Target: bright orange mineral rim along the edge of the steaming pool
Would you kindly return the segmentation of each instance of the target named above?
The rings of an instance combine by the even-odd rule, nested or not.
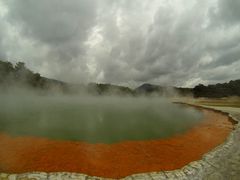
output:
[[[174,170],[201,159],[233,129],[228,116],[202,109],[204,119],[168,139],[89,144],[0,134],[0,172],[81,172],[121,178],[134,173]]]

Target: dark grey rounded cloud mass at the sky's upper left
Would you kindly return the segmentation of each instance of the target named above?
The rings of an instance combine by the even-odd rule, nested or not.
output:
[[[84,40],[95,20],[93,0],[9,0],[8,20],[28,38],[60,46]]]

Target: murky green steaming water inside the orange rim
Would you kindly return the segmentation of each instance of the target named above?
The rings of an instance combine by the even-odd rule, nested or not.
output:
[[[0,132],[13,136],[116,143],[170,137],[201,119],[160,98],[0,96]]]

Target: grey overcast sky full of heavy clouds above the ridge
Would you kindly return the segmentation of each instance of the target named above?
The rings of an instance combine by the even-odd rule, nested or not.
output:
[[[67,82],[240,78],[239,0],[0,0],[0,59]]]

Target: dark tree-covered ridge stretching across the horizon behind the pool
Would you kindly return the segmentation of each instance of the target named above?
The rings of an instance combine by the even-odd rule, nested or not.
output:
[[[240,80],[228,83],[204,86],[199,84],[194,88],[180,88],[172,86],[160,86],[144,83],[136,89],[129,87],[89,83],[87,85],[71,84],[59,80],[42,77],[25,67],[23,62],[13,65],[10,62],[0,61],[0,88],[12,86],[27,87],[34,90],[47,92],[60,92],[68,94],[87,93],[93,95],[159,95],[159,96],[194,96],[207,98],[222,98],[228,96],[240,96]]]

